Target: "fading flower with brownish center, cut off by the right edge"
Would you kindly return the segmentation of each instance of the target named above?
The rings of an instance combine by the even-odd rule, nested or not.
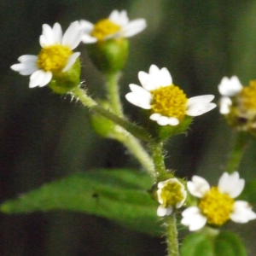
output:
[[[224,114],[228,123],[239,131],[256,132],[256,81],[243,87],[240,80],[233,76],[224,77],[218,84],[221,94],[219,112]]]

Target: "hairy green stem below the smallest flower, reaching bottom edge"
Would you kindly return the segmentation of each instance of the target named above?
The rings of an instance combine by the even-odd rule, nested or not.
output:
[[[166,243],[168,256],[178,256],[177,224],[174,213],[166,217]]]

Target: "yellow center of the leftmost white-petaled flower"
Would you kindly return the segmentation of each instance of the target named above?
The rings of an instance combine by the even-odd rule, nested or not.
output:
[[[38,54],[37,65],[44,71],[61,72],[67,66],[67,59],[73,51],[61,44],[45,46]]]

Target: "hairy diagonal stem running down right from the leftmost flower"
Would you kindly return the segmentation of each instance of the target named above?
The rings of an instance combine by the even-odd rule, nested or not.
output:
[[[143,129],[140,126],[133,125],[125,119],[119,118],[116,114],[109,112],[107,109],[103,108],[96,101],[94,101],[90,96],[87,96],[86,92],[81,88],[77,87],[70,91],[71,95],[77,98],[83,105],[96,113],[100,113],[103,117],[112,120],[115,124],[120,125],[126,131],[129,131],[134,137],[142,139],[146,142],[149,142],[150,135],[148,131]]]

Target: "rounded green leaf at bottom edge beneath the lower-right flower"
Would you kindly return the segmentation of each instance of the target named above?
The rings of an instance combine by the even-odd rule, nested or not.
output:
[[[230,231],[218,236],[194,233],[187,236],[181,247],[181,256],[247,256],[240,238]]]

